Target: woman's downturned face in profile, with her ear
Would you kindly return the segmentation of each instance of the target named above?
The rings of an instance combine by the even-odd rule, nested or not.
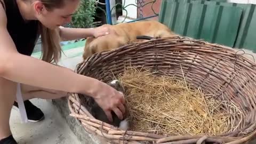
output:
[[[45,6],[41,2],[38,2],[38,6],[35,4],[35,8],[36,11],[38,9],[41,9],[41,11],[36,14],[36,17],[45,27],[55,29],[71,22],[72,15],[75,13],[79,3],[79,0],[66,0],[65,5],[60,9],[47,11]]]

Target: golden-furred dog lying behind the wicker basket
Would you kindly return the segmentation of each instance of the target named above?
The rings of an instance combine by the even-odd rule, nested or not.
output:
[[[106,36],[86,39],[83,53],[84,60],[94,53],[113,50],[137,41],[137,36],[165,37],[176,35],[167,26],[158,21],[118,23],[117,25],[106,24],[101,27],[109,27],[110,33]]]

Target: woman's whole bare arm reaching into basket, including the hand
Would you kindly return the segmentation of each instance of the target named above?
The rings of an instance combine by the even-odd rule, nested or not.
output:
[[[111,110],[122,118],[121,93],[97,79],[18,53],[6,29],[6,15],[0,6],[0,76],[10,81],[46,89],[87,94],[93,97],[111,120]],[[122,112],[121,112],[122,111]]]

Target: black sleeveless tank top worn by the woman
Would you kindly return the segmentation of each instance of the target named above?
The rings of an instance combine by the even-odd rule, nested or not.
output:
[[[16,1],[17,0],[4,0],[7,16],[7,30],[18,52],[30,56],[33,53],[36,41],[39,37],[38,21],[23,20]],[[2,1],[0,1],[0,4],[3,5]]]

